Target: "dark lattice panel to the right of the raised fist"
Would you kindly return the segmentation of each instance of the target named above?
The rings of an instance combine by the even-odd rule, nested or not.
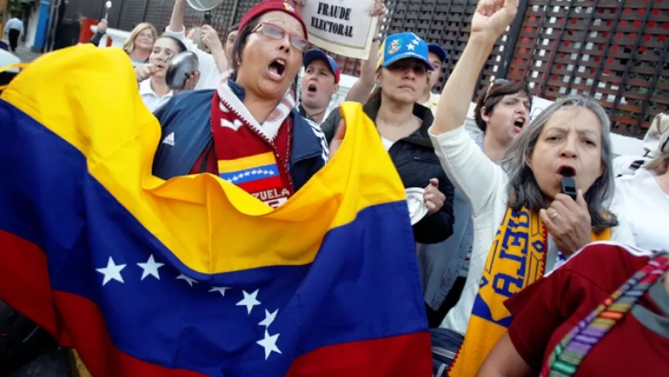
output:
[[[529,0],[508,76],[546,99],[589,94],[614,132],[643,137],[669,104],[668,34],[668,0]]]

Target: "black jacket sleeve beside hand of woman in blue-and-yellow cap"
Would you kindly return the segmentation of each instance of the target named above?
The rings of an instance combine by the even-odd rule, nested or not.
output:
[[[454,187],[446,178],[439,177],[439,191],[444,193],[446,200],[439,212],[425,216],[414,225],[414,238],[418,243],[439,243],[453,234],[453,196]]]

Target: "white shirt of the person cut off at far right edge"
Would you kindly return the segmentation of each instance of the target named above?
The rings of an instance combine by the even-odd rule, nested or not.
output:
[[[611,211],[627,220],[638,247],[669,248],[669,195],[652,172],[641,168],[633,176],[616,179]]]

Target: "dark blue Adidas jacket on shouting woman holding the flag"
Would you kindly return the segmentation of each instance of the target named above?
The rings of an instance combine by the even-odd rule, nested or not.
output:
[[[240,100],[244,89],[228,81]],[[213,143],[211,105],[214,90],[187,91],[175,96],[154,115],[162,128],[158,151],[153,159],[153,174],[162,179],[190,173],[195,161]],[[293,109],[292,151],[288,169],[295,190],[299,190],[327,161],[327,142],[320,128]],[[165,139],[170,136],[170,139]]]

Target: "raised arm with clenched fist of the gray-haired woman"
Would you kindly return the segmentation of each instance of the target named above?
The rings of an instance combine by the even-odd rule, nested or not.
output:
[[[495,41],[516,15],[518,0],[481,0],[471,19],[471,35],[441,92],[429,129],[434,151],[454,186],[467,198],[473,216],[479,216],[504,190],[508,178],[464,129],[476,88],[476,79]]]

